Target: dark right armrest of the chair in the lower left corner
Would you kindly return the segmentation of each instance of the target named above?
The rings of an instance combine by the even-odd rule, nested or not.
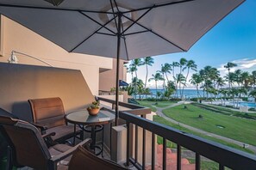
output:
[[[91,138],[85,139],[83,142],[78,143],[76,146],[72,147],[72,149],[66,150],[66,152],[63,152],[63,153],[61,153],[59,155],[56,155],[56,156],[53,156],[50,161],[52,161],[53,163],[57,163],[61,160],[64,160],[66,157],[72,155],[72,153],[78,148],[78,146],[83,146],[84,147],[85,145],[87,145],[89,143],[91,143]]]

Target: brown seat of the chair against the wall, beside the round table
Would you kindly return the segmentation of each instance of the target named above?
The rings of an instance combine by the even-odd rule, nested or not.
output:
[[[76,133],[78,134],[80,131],[82,131],[78,126],[76,128]],[[56,134],[52,136],[53,141],[62,141],[63,138],[67,139],[69,137],[73,136],[74,132],[74,125],[61,125],[57,127],[53,127],[47,130],[47,133],[55,132]]]

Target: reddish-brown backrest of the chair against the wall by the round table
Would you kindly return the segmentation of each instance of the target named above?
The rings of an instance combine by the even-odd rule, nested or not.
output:
[[[66,124],[65,111],[59,97],[28,100],[33,121],[47,128]]]

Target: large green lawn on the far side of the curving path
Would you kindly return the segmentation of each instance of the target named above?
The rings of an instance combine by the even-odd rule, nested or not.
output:
[[[186,106],[187,109],[184,109],[184,105],[180,105],[165,109],[163,112],[178,122],[256,146],[255,120],[227,116],[197,106]],[[198,118],[199,115],[202,115],[203,118]],[[216,125],[225,128],[218,128]]]

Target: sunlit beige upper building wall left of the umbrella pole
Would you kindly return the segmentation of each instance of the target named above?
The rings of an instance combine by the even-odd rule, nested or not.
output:
[[[54,67],[81,70],[92,94],[98,94],[99,68],[112,69],[112,58],[101,58],[78,53],[68,53],[39,34],[15,21],[2,16],[1,45],[3,57],[0,62],[7,62],[11,51],[23,52],[36,58],[41,58]],[[1,54],[0,52],[0,54]],[[16,55],[19,64],[45,65],[33,58]]]

